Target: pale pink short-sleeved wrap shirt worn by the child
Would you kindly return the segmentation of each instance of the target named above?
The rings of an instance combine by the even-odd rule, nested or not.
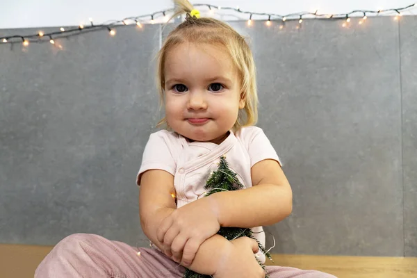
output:
[[[138,172],[164,170],[174,176],[177,191],[177,207],[193,202],[204,196],[204,185],[211,172],[217,170],[220,156],[225,155],[231,170],[236,172],[240,182],[252,186],[251,168],[259,161],[273,159],[280,165],[279,157],[263,130],[256,126],[243,127],[240,132],[230,132],[220,145],[212,142],[189,142],[172,131],[161,130],[149,137]],[[262,227],[254,227],[254,237],[265,246]],[[265,262],[265,255],[259,252],[259,259]]]

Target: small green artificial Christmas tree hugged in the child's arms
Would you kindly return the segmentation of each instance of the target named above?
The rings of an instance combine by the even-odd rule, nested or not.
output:
[[[222,192],[222,191],[231,191],[231,190],[240,190],[245,188],[242,183],[240,183],[238,179],[238,175],[230,170],[229,165],[226,161],[225,156],[220,157],[220,162],[218,163],[219,167],[218,170],[213,172],[211,176],[206,181],[206,186],[204,189],[206,190],[206,196],[209,196],[214,193]],[[234,240],[236,238],[240,238],[241,236],[247,236],[248,238],[254,238],[252,236],[252,231],[247,228],[235,228],[235,227],[220,227],[218,231],[220,236],[224,236],[228,240]],[[256,240],[259,245],[259,250],[265,254],[268,259],[272,261],[271,255],[269,252],[265,252],[265,247]],[[265,270],[265,266],[258,261],[261,267]],[[186,272],[183,278],[210,278],[210,275],[201,275],[193,270],[186,269]],[[268,274],[265,274],[265,278],[268,278]]]

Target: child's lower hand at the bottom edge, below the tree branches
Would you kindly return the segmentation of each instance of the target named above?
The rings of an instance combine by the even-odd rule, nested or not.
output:
[[[259,251],[256,240],[243,236],[230,242],[232,243],[231,250],[218,265],[213,278],[264,278],[265,270],[255,258],[255,254]]]

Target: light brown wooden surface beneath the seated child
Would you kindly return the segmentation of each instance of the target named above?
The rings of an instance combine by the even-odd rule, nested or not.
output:
[[[0,277],[33,277],[36,267],[51,246],[0,245]],[[276,264],[314,269],[339,278],[411,278],[417,277],[417,258],[370,256],[272,255]]]

